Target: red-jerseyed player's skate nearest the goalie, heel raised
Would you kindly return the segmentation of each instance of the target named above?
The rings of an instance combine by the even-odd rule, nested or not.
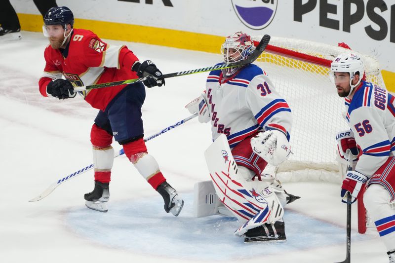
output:
[[[184,200],[181,199],[177,191],[167,182],[163,182],[157,189],[158,193],[163,197],[164,210],[166,213],[172,213],[175,217],[181,213],[184,206]]]

